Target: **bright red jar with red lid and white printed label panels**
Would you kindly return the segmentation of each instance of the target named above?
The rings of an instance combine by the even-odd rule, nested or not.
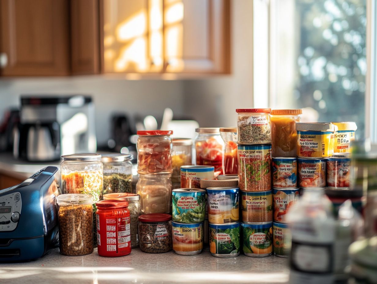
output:
[[[96,203],[98,255],[124,256],[131,253],[130,210],[127,201]]]

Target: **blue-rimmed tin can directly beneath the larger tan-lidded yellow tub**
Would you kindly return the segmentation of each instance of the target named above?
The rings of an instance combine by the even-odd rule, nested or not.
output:
[[[299,187],[326,186],[326,161],[327,159],[298,158]]]

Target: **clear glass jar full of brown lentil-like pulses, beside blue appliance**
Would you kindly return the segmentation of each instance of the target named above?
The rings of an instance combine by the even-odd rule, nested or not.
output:
[[[93,252],[92,204],[90,194],[61,194],[57,197],[61,254],[86,255]]]

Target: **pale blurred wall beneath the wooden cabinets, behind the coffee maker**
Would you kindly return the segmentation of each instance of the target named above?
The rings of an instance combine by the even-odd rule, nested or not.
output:
[[[161,117],[165,107],[182,114],[182,82],[164,80],[111,80],[101,76],[17,78],[0,80],[0,120],[4,111],[18,106],[20,94],[88,94],[95,103],[98,144],[110,135],[114,112]]]

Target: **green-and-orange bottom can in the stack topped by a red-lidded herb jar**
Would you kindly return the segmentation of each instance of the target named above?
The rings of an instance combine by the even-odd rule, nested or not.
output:
[[[244,254],[251,257],[265,257],[272,254],[272,222],[245,224],[242,226]]]

